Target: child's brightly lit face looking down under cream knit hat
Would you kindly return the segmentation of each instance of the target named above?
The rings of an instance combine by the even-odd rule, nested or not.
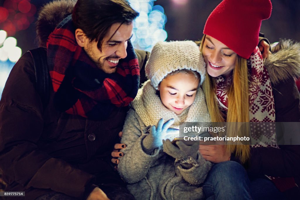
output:
[[[177,115],[193,104],[199,79],[193,73],[170,75],[164,78],[158,86],[161,102]]]

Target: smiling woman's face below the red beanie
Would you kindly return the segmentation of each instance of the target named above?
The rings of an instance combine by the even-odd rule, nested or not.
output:
[[[207,65],[207,73],[212,77],[228,76],[238,58],[234,51],[209,35],[205,37],[202,54]]]

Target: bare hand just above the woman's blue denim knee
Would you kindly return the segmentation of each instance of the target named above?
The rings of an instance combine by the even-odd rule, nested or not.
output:
[[[226,151],[225,145],[199,145],[199,152],[205,160],[213,163],[230,160],[230,153]]]

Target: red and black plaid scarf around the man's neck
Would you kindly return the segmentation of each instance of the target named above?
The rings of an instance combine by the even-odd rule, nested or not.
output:
[[[49,35],[47,62],[58,111],[105,118],[111,108],[128,106],[137,95],[140,69],[132,44],[113,74],[99,69],[75,40],[71,16]]]

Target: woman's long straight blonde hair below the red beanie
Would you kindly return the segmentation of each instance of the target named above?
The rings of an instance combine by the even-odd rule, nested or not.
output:
[[[200,44],[202,52],[205,35]],[[242,44],[241,44],[242,45]],[[236,137],[238,135],[237,122],[249,122],[249,79],[247,60],[238,56],[233,69],[232,84],[228,87],[228,112],[225,116],[219,109],[216,95],[215,79],[208,75],[206,70],[205,80],[203,82],[206,103],[212,122],[235,122],[227,124],[227,137]],[[248,124],[248,123],[247,123]],[[229,125],[229,127],[228,127]],[[241,131],[241,130],[240,130]],[[239,132],[240,133],[240,132]],[[249,137],[249,127],[244,126],[243,136]],[[241,135],[238,135],[241,137]],[[250,157],[250,147],[244,144],[227,144],[226,150],[235,153],[242,163],[245,163]]]

